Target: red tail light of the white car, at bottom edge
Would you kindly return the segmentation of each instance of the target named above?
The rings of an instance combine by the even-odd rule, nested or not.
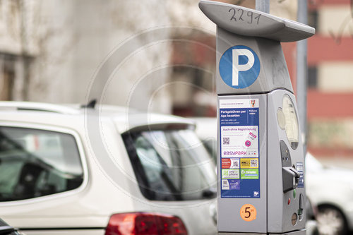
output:
[[[112,215],[105,235],[187,235],[179,217],[157,213],[123,213]]]

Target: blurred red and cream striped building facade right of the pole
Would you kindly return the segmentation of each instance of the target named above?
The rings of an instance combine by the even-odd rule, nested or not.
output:
[[[308,6],[309,25],[316,28],[308,40],[309,151],[353,157],[352,1],[313,0]]]

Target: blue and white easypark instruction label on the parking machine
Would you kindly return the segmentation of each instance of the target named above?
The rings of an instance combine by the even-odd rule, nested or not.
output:
[[[220,100],[222,198],[260,198],[258,125],[258,99]]]

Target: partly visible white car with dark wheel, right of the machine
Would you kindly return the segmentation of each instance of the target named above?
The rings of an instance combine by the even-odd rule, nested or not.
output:
[[[318,205],[318,230],[345,235],[353,230],[353,171],[327,168],[306,155],[306,194]]]

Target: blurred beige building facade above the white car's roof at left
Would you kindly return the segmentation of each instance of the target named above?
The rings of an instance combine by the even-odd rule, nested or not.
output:
[[[99,89],[90,85],[109,56],[119,54],[119,45],[143,30],[170,25],[167,10],[162,0],[0,1],[0,100],[82,104],[90,93],[99,102],[129,106],[135,95],[149,99],[159,83],[144,84],[138,94],[133,88],[146,73],[168,64],[169,42],[135,40],[138,50],[109,64],[114,73],[105,75]],[[160,33],[167,37],[169,31]],[[158,73],[160,83],[169,80],[169,71]],[[153,102],[156,111],[170,112],[166,92]]]

